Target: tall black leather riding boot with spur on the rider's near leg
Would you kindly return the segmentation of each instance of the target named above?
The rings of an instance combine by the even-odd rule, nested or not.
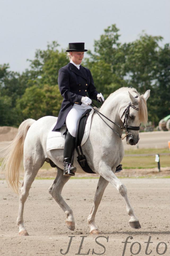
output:
[[[64,163],[64,175],[75,176],[76,167],[71,163],[73,151],[75,150],[76,138],[73,137],[68,131],[65,139],[63,163]]]

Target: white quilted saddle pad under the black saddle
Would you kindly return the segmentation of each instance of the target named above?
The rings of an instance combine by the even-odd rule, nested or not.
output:
[[[89,137],[90,133],[90,126],[91,126],[91,117],[94,113],[94,110],[92,109],[90,111],[89,117],[86,122],[84,135],[81,141],[81,146],[86,142],[86,140]],[[52,149],[64,149],[64,143],[65,143],[65,135],[63,133],[66,131],[66,125],[64,125],[60,131],[52,131],[54,126],[56,125],[56,122],[51,126],[50,132],[47,136],[47,151]]]

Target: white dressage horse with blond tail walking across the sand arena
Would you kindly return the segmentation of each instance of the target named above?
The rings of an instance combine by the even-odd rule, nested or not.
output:
[[[134,108],[130,107],[129,109],[128,125],[140,126],[141,122],[147,122],[146,100],[149,95],[150,90],[146,91],[144,95],[140,95],[136,89],[123,87],[110,94],[99,111],[122,126],[124,110],[131,104]],[[137,111],[137,108],[139,111]],[[63,186],[70,178],[70,176],[63,176],[63,150],[55,149],[48,152],[46,151],[47,135],[50,131],[50,127],[56,122],[56,119],[56,117],[47,116],[37,121],[27,119],[22,122],[14,141],[7,150],[6,158],[3,161],[2,168],[6,171],[6,180],[15,192],[18,191],[19,187],[19,174],[22,170],[22,159],[24,162],[25,174],[20,188],[19,213],[17,218],[19,235],[28,235],[23,220],[24,203],[29,195],[32,182],[46,159],[51,159],[57,166],[57,175],[53,184],[49,187],[49,193],[66,214],[66,226],[70,230],[75,229],[73,211],[61,196]],[[119,127],[110,121],[107,121],[107,123],[109,123],[117,133],[122,135],[122,130]],[[127,143],[135,145],[139,140],[139,131],[129,130],[126,140]],[[99,234],[98,228],[94,222],[95,214],[108,182],[116,187],[123,196],[127,213],[130,215],[130,226],[135,229],[140,228],[138,218],[130,205],[127,189],[115,175],[116,166],[121,163],[124,156],[122,139],[102,121],[97,113],[93,114],[90,134],[88,140],[82,146],[82,150],[86,155],[91,169],[95,173],[100,174],[93,206],[88,216],[90,234]],[[77,152],[75,152],[74,160],[77,173],[83,173],[76,157]]]

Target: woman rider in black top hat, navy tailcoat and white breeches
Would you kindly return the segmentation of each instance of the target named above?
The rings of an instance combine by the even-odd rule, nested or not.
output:
[[[66,123],[68,131],[63,155],[64,175],[74,176],[76,167],[72,165],[71,158],[75,149],[77,122],[91,108],[91,99],[104,101],[104,98],[96,91],[90,70],[80,65],[87,51],[84,43],[69,43],[66,51],[70,62],[59,70],[58,75],[59,90],[64,99],[53,131],[59,131]]]

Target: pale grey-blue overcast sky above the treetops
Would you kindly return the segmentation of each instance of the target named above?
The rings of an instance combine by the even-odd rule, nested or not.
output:
[[[94,39],[111,24],[120,29],[120,42],[138,38],[142,30],[170,41],[169,0],[0,0],[0,64],[22,72],[36,49],[58,41],[85,42],[93,50]]]

